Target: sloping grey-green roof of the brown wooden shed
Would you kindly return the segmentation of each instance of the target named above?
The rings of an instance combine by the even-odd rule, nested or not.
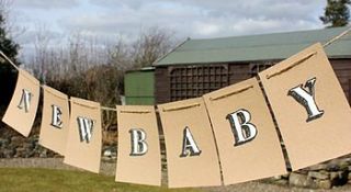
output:
[[[313,31],[188,39],[155,66],[284,59],[317,42],[326,43],[350,26]],[[351,58],[351,34],[326,48],[329,58]]]

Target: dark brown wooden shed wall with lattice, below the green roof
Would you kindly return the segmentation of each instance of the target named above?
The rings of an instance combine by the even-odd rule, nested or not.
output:
[[[160,104],[201,97],[206,92],[249,79],[274,63],[278,63],[278,60],[273,63],[258,63],[257,65],[231,63],[157,67],[155,72],[156,103]],[[330,63],[351,103],[351,59],[332,59]],[[220,67],[218,68],[218,66],[220,66],[222,69]],[[194,68],[196,68],[196,70],[194,70]],[[226,70],[225,72],[223,72],[224,69]],[[199,71],[202,71],[205,77],[201,76],[200,78]],[[218,80],[219,77],[220,80]],[[188,87],[183,87],[184,82],[188,83]],[[196,90],[196,87],[201,90]],[[174,91],[174,89],[180,92]],[[177,94],[177,97],[174,97],[174,94]]]

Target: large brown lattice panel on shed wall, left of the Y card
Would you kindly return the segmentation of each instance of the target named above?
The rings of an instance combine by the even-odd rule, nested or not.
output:
[[[201,97],[228,84],[228,65],[186,66],[170,72],[171,101]]]

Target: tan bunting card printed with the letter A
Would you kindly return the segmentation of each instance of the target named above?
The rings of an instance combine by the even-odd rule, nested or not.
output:
[[[170,188],[220,185],[216,145],[204,101],[158,105]]]

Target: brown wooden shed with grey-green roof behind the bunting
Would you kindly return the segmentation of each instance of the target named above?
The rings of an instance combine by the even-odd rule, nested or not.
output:
[[[158,59],[156,103],[201,97],[246,80],[309,45],[326,43],[348,27],[186,39]],[[328,58],[351,101],[351,34],[326,48]]]

